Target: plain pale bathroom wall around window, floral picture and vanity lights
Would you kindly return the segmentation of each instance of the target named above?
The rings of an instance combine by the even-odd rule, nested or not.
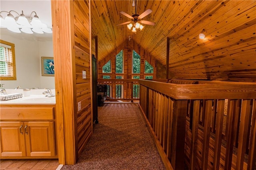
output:
[[[50,0],[1,0],[1,11],[10,10],[19,14],[23,11],[26,17],[35,11],[39,19],[52,28]],[[2,12],[1,16],[5,18],[7,13]],[[52,33],[15,33],[7,28],[0,28],[0,39],[15,45],[16,80],[1,80],[0,84],[4,84],[5,89],[14,89],[18,86],[21,86],[21,89],[55,89],[54,76],[43,76],[41,73],[41,57],[53,57]]]

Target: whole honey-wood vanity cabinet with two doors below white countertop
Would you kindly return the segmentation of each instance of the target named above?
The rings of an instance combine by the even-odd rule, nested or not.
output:
[[[11,110],[14,112],[10,112]],[[30,117],[30,112],[37,110],[42,110],[42,114],[38,112],[36,118]],[[49,111],[52,113],[44,114]],[[11,113],[9,118],[6,113]],[[38,107],[29,109],[1,107],[1,116],[1,158],[56,158],[53,107],[40,109]]]

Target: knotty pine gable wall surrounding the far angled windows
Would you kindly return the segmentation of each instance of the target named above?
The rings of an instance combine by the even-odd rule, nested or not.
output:
[[[124,61],[124,73],[116,73],[116,55],[123,50],[123,61]],[[132,74],[132,50],[136,51],[140,55],[140,74]],[[111,63],[111,73],[102,74],[102,67],[109,61]],[[110,75],[112,79],[116,78],[116,75],[122,75],[124,79],[132,79],[133,75],[139,75],[140,79],[144,79],[145,75],[149,73],[144,73],[145,60],[152,65],[154,68],[153,79],[156,79],[157,69],[156,69],[156,59],[150,55],[145,49],[140,47],[133,40],[126,41],[117,47],[112,53],[106,56],[104,59],[99,61],[98,67],[98,79],[102,79],[103,75]]]

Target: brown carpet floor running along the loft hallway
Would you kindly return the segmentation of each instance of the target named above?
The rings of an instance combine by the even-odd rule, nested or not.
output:
[[[77,164],[62,170],[165,170],[135,103],[105,103]]]

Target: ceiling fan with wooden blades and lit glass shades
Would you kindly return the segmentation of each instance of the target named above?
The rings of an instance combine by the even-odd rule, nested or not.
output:
[[[136,29],[139,29],[139,28],[140,28],[140,30],[142,30],[144,28],[144,26],[142,26],[141,24],[146,24],[146,25],[154,26],[156,23],[142,20],[142,18],[144,18],[145,16],[147,16],[151,12],[152,12],[152,10],[148,9],[145,12],[143,12],[142,14],[139,15],[139,14],[136,14],[136,7],[135,7],[135,14],[130,16],[129,14],[121,11],[120,14],[123,14],[124,16],[130,18],[131,21],[124,22],[124,23],[118,24],[116,26],[121,26],[121,25],[124,25],[124,24],[128,24],[127,27],[129,28],[129,30],[132,29],[132,32],[136,32]]]

